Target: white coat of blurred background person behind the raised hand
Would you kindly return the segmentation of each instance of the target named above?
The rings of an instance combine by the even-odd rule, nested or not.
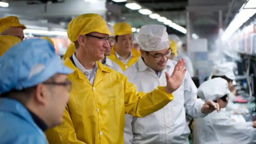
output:
[[[190,60],[190,58],[184,52],[179,52],[178,56],[175,57],[174,60],[178,62],[182,58],[186,62],[186,68],[187,68],[187,71],[189,72],[190,76],[194,77],[194,68],[193,68],[192,61]]]

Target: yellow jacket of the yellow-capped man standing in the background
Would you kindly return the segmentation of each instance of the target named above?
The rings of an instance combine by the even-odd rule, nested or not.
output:
[[[115,53],[115,45],[112,47],[110,56],[108,56],[108,59],[112,60],[113,62],[117,63],[123,71],[128,69],[131,65],[136,63],[139,60],[140,57],[140,51],[136,48],[132,48],[132,58],[128,61],[127,65],[125,65],[122,61],[120,61]]]

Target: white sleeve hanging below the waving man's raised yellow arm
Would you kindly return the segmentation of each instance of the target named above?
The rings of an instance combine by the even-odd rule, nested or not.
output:
[[[133,120],[133,116],[129,114],[125,114],[124,144],[132,144],[132,141],[133,141],[132,120]]]

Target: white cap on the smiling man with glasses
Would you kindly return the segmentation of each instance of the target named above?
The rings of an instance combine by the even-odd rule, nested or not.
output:
[[[162,25],[145,25],[139,30],[137,40],[142,50],[158,51],[170,46],[166,27]]]

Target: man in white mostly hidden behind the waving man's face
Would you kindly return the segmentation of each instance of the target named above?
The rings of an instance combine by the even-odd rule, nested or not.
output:
[[[111,25],[107,24],[107,28],[110,30],[111,33],[114,34],[114,28]],[[105,53],[104,53],[105,57],[104,57],[103,60],[101,60],[101,63],[103,65],[107,66],[107,67],[113,68],[114,70],[122,73],[123,71],[122,71],[121,67],[117,63],[111,61],[108,58],[108,56],[110,56],[110,53],[111,53],[111,48],[115,44],[115,36],[114,35],[109,35],[109,42],[108,43],[109,43],[110,47],[106,48]]]

